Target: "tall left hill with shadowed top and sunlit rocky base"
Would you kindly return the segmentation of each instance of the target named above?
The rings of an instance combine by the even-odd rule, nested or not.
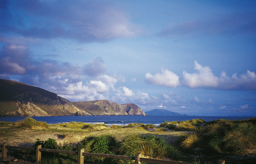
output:
[[[0,116],[91,115],[50,91],[0,79]]]

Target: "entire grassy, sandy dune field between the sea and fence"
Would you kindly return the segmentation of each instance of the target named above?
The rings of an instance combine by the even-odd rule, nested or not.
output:
[[[201,119],[108,127],[104,124],[69,122],[48,125],[32,118],[14,122],[0,121],[0,144],[35,146],[77,151],[134,156],[138,152],[156,159],[189,163],[256,162],[256,118],[250,120]],[[27,160],[28,152],[15,152]],[[24,155],[26,154],[26,155]],[[50,155],[52,156],[52,155]],[[43,155],[41,163],[76,163],[75,155]],[[86,157],[87,163],[133,163],[133,161]],[[85,162],[85,163],[86,163]]]

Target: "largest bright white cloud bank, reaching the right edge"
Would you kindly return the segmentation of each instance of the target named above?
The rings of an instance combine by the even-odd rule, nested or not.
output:
[[[204,67],[197,61],[194,63],[197,73],[183,72],[183,84],[185,86],[222,90],[256,90],[256,74],[254,71],[247,70],[245,74],[241,74],[239,77],[236,73],[229,77],[225,72],[222,72],[221,76],[217,77],[212,73],[210,67]]]

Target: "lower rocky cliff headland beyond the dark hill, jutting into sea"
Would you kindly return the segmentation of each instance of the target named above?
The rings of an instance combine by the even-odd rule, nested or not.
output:
[[[92,115],[146,115],[143,110],[135,104],[119,105],[109,100],[80,101],[73,103]]]

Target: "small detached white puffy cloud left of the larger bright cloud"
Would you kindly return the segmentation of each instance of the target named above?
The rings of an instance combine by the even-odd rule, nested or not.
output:
[[[155,75],[151,75],[150,73],[146,73],[145,75],[146,82],[165,86],[165,87],[177,87],[180,85],[178,75],[174,74],[172,71],[167,69],[161,70],[161,73],[157,73]]]

